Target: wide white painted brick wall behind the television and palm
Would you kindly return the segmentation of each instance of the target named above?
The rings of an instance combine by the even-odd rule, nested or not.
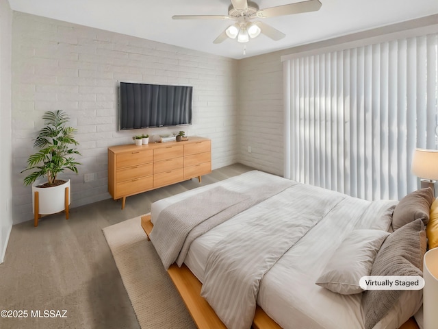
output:
[[[47,110],[65,110],[77,127],[82,156],[72,180],[72,206],[109,198],[107,147],[133,143],[117,131],[118,81],[194,86],[189,135],[212,140],[213,169],[237,160],[237,60],[14,12],[12,25],[12,174],[14,223],[32,219],[31,188],[23,185],[32,138]],[[83,175],[96,173],[94,182]]]

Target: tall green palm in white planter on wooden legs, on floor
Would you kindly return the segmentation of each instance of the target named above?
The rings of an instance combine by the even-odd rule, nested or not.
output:
[[[70,180],[58,180],[57,174],[69,169],[77,173],[74,155],[79,145],[73,137],[76,129],[66,124],[70,119],[62,110],[47,111],[42,116],[44,127],[36,136],[34,147],[40,150],[27,159],[27,168],[32,170],[24,179],[25,185],[32,185],[32,208],[34,226],[38,226],[40,215],[66,212],[70,205]],[[23,171],[21,171],[23,173]]]

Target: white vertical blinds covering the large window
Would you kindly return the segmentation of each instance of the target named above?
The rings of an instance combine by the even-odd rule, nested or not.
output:
[[[368,200],[417,188],[415,147],[438,148],[438,34],[283,66],[286,178]]]

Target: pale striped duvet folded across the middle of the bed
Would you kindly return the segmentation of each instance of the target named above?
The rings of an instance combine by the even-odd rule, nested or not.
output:
[[[318,202],[315,192],[320,193]],[[229,234],[209,252],[201,295],[229,329],[251,328],[265,273],[346,197],[305,184],[285,193],[294,212],[269,208],[255,217],[240,218],[245,228]]]

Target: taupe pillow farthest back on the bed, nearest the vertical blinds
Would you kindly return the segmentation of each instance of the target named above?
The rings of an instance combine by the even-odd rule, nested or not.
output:
[[[392,215],[392,228],[397,230],[415,219],[422,219],[424,225],[429,221],[430,206],[434,201],[432,188],[413,191],[400,200]]]

